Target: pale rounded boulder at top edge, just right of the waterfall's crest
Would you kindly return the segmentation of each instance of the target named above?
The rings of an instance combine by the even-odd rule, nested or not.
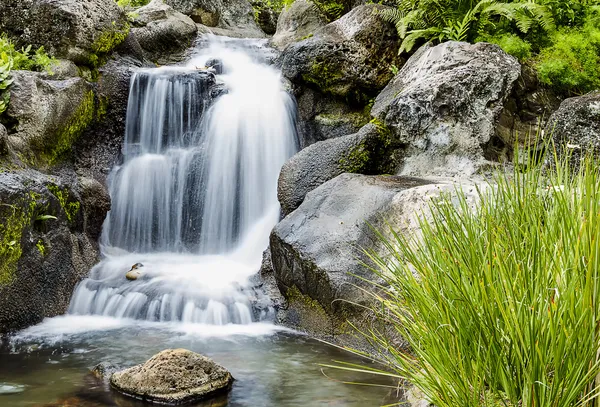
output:
[[[277,20],[277,31],[271,44],[284,50],[289,44],[310,38],[327,24],[327,19],[314,3],[308,0],[296,0],[284,7]]]

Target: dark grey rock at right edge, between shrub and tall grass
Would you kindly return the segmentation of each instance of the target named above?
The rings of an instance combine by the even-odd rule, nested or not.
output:
[[[550,116],[544,132],[552,136],[557,154],[578,168],[587,152],[600,154],[600,92],[565,100]]]

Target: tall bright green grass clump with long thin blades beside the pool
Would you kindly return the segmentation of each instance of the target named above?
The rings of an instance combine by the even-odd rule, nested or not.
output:
[[[454,195],[432,203],[421,238],[393,233],[387,255],[369,253],[389,284],[375,311],[411,349],[365,332],[388,355],[378,373],[437,407],[597,406],[600,163],[500,173],[476,208]]]

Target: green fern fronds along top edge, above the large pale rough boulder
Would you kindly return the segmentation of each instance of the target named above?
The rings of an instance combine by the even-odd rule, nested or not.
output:
[[[380,12],[402,39],[400,53],[420,41],[474,41],[488,26],[514,23],[526,33],[535,24],[554,26],[546,7],[533,1],[398,0],[398,8]]]

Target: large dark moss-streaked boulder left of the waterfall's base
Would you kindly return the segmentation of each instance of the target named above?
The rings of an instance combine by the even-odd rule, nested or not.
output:
[[[2,169],[0,202],[0,332],[7,332],[66,312],[99,260],[110,197],[66,169],[54,176]]]

